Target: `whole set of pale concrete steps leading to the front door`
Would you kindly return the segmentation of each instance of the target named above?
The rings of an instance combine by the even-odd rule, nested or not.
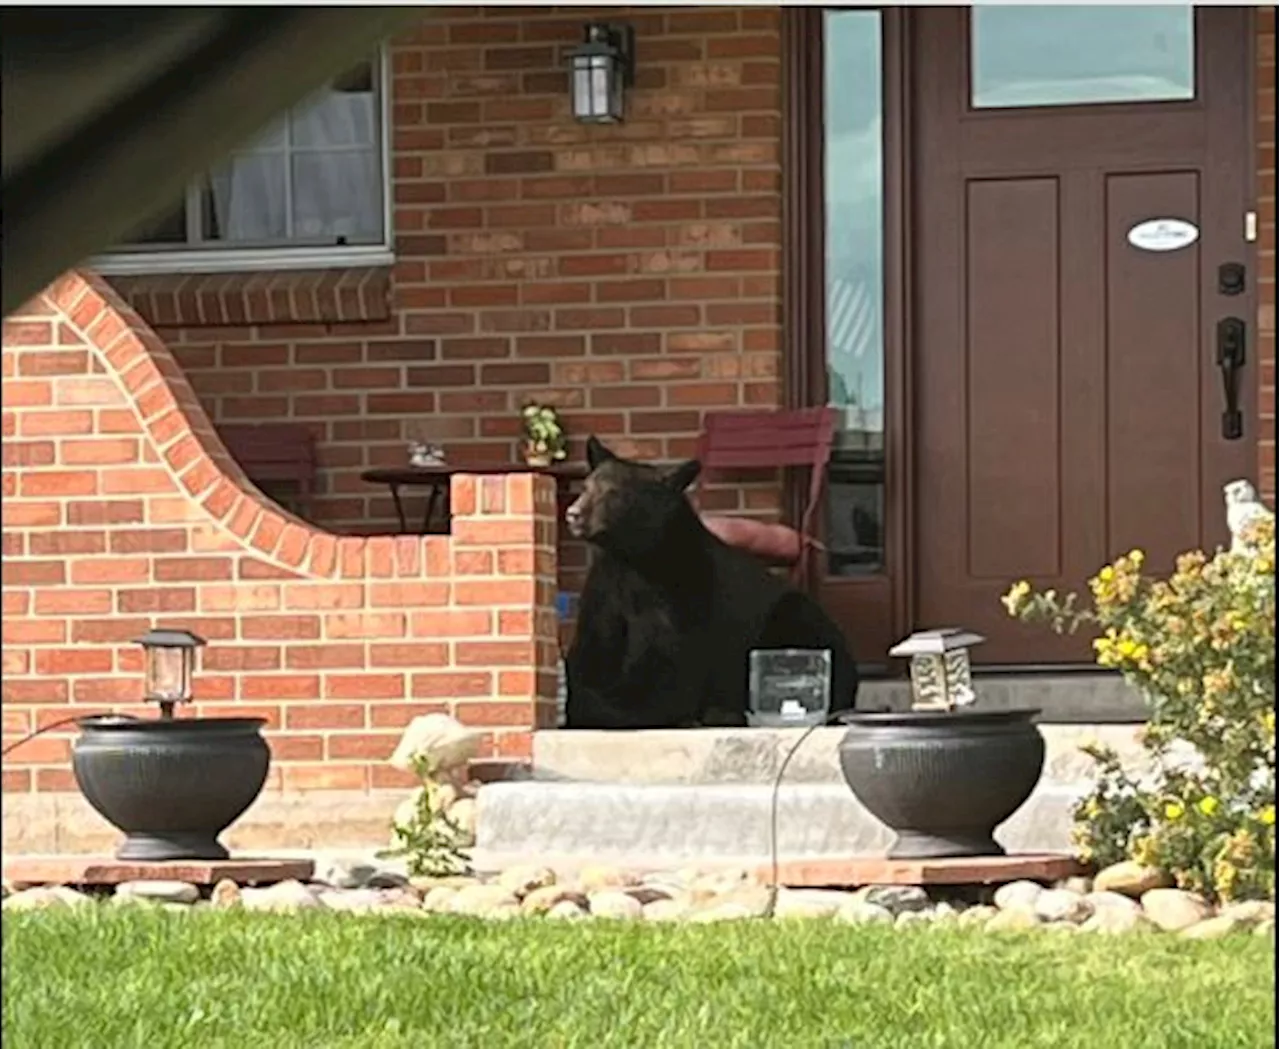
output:
[[[1089,710],[1115,714],[1142,704],[1119,678],[1102,674],[979,678],[983,707],[1041,707],[1044,774],[1032,798],[998,832],[1011,851],[1070,848],[1071,807],[1093,782],[1087,741],[1115,747],[1140,773],[1148,765],[1140,725],[1080,723]],[[865,706],[905,709],[904,682],[870,682]],[[1071,716],[1062,718],[1066,711]],[[1064,723],[1065,722],[1065,723]],[[500,865],[529,857],[660,866],[767,862],[771,791],[805,729],[681,729],[534,736],[531,779],[480,792],[477,857]],[[844,728],[813,732],[795,752],[778,796],[780,856],[877,855],[891,833],[854,798],[840,773]]]

